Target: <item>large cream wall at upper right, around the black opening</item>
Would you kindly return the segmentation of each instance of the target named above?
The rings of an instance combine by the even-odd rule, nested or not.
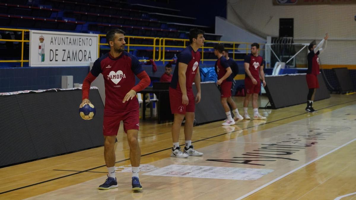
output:
[[[355,15],[356,4],[273,6],[272,0],[227,0],[227,20],[261,37],[278,37],[279,18],[294,18],[294,42],[319,42],[329,33],[320,55],[323,64],[356,64]]]

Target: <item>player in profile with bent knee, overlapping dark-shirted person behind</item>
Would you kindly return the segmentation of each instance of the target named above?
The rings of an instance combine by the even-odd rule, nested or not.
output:
[[[227,63],[227,60],[223,56],[223,51],[223,44],[216,44],[214,46],[214,54],[216,57],[218,57],[218,60],[216,60],[215,62],[215,72],[216,74],[218,74],[218,81],[216,82],[216,84],[220,85],[221,105],[223,105],[227,117],[226,122],[222,123],[221,125],[230,126],[235,124],[235,121],[234,119],[232,119],[231,116],[230,107],[229,105],[227,105],[227,98],[231,98],[232,70],[229,64]],[[234,101],[232,101],[231,107],[232,109],[236,110],[236,104]],[[239,117],[239,115],[237,117]],[[239,118],[242,118],[242,116]]]

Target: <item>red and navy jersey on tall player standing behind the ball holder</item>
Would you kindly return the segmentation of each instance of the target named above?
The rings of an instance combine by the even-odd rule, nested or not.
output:
[[[199,62],[200,62],[200,53],[195,52],[192,46],[185,47],[182,52],[178,54],[177,64],[174,68],[173,77],[171,81],[171,88],[176,89],[178,91],[182,91],[179,85],[178,79],[178,68],[179,63],[187,64],[187,71],[185,72],[185,86],[187,88],[187,92],[193,92],[192,85],[194,82],[195,75],[199,73]]]

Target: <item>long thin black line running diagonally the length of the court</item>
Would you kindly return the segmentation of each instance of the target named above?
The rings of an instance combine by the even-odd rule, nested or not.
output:
[[[331,106],[326,106],[326,107],[323,107],[323,108],[321,108],[321,109],[319,109],[319,110],[326,109],[326,108],[329,108],[329,107],[338,106],[338,105],[342,105],[342,104],[348,104],[348,103],[354,102],[354,101],[356,101],[356,100],[347,101],[347,102],[344,102],[344,103],[335,104],[335,105],[331,105]],[[282,119],[279,119],[279,120],[269,121],[269,122],[266,122],[266,123],[262,123],[262,124],[260,124],[260,125],[265,125],[265,124],[267,124],[267,123],[273,123],[273,122],[276,122],[276,121],[281,121],[281,120],[285,120],[285,119],[289,119],[289,118],[292,118],[292,117],[296,117],[296,116],[299,116],[299,115],[305,115],[305,114],[307,114],[307,113],[303,112],[303,113],[301,113],[301,114],[297,114],[297,115],[285,117],[285,118],[282,118]],[[232,132],[236,132],[236,131],[240,131],[240,130],[244,130],[244,129],[248,129],[248,128],[252,128],[252,127],[257,127],[257,126],[260,126],[260,125],[250,126],[250,127],[241,128],[241,129],[235,130],[235,131],[230,131],[230,132],[226,132],[226,133],[221,133],[221,134],[219,134],[219,135],[211,136],[211,137],[207,137],[207,138],[203,138],[203,139],[201,139],[201,140],[197,140],[197,141],[194,141],[194,142],[204,141],[204,140],[207,140],[207,139],[210,139],[210,138],[219,137],[219,136],[222,136],[222,135],[226,135],[226,134],[228,134],[228,133],[232,133]],[[194,142],[192,141],[192,143],[194,143]],[[184,144],[183,144],[183,145],[180,145],[180,146],[184,146]],[[142,156],[148,156],[148,155],[151,155],[151,154],[154,154],[154,153],[158,153],[158,152],[162,152],[162,151],[166,151],[166,150],[168,150],[168,149],[171,149],[171,147],[170,147],[170,148],[161,149],[161,150],[158,150],[158,151],[155,151],[155,152],[151,152],[151,153],[146,153],[146,154],[141,155],[141,157],[142,157]],[[124,161],[126,161],[126,160],[130,160],[130,158],[126,158],[126,159],[117,161],[117,162],[115,162],[115,163],[124,162]],[[38,184],[42,184],[42,183],[47,183],[47,182],[49,182],[49,181],[53,181],[53,180],[57,180],[57,179],[61,179],[61,178],[66,178],[66,177],[69,177],[69,176],[72,176],[72,175],[80,174],[80,173],[83,173],[83,172],[88,172],[88,171],[90,171],[90,170],[98,169],[98,168],[100,168],[100,167],[105,167],[105,166],[106,166],[106,165],[101,165],[101,166],[99,166],[99,167],[94,167],[94,168],[87,169],[87,170],[84,170],[84,171],[79,171],[79,172],[77,172],[77,173],[68,174],[68,175],[65,175],[65,176],[62,176],[62,177],[57,177],[57,178],[54,178],[54,179],[49,179],[49,180],[41,181],[41,182],[39,182],[39,183],[34,183],[34,184],[31,184],[31,185],[26,185],[26,186],[23,186],[23,187],[20,187],[20,188],[15,188],[15,189],[12,189],[12,190],[7,190],[7,191],[4,191],[4,192],[1,192],[0,194],[9,193],[9,192],[12,192],[12,191],[15,191],[15,190],[20,190],[20,189],[23,189],[23,188],[28,188],[28,187],[31,187],[31,186],[34,186],[34,185],[38,185]]]

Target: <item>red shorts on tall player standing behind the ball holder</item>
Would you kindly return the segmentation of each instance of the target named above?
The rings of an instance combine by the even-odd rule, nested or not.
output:
[[[187,91],[188,105],[182,104],[182,92],[169,87],[169,102],[171,103],[172,114],[185,114],[185,112],[195,111],[195,100],[192,91]]]

